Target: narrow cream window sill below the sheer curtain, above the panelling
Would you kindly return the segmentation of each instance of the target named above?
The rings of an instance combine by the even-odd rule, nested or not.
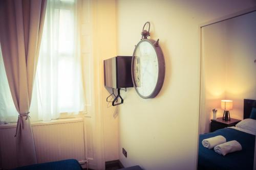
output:
[[[75,122],[83,122],[83,118],[82,117],[59,118],[51,121],[32,122],[31,126],[33,127],[33,126],[43,126],[43,125],[67,124],[67,123],[75,123]],[[8,128],[16,128],[16,123],[0,125],[0,130],[8,129]]]

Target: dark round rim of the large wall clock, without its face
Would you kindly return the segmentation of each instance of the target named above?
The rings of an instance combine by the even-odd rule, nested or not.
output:
[[[139,46],[139,44],[143,41],[147,41],[148,43],[150,43],[156,54],[157,54],[157,60],[158,60],[158,78],[157,78],[157,83],[156,83],[156,86],[154,88],[154,90],[152,91],[152,93],[150,95],[147,95],[147,96],[144,96],[142,94],[139,93],[139,91],[137,90],[136,88],[136,83],[135,83],[135,80],[134,80],[134,69],[133,69],[133,66],[134,66],[134,55],[135,55],[135,52]],[[164,56],[163,56],[163,52],[161,50],[161,47],[159,45],[154,45],[156,41],[153,40],[153,39],[142,39],[138,42],[138,44],[136,45],[135,49],[134,49],[134,52],[133,52],[133,57],[132,57],[132,64],[131,64],[131,68],[132,68],[132,80],[133,80],[133,85],[134,85],[134,88],[136,90],[136,92],[139,94],[139,96],[143,99],[151,99],[151,98],[155,98],[158,93],[160,92],[162,86],[163,86],[163,82],[164,82],[164,76],[165,76],[165,62],[164,62]]]

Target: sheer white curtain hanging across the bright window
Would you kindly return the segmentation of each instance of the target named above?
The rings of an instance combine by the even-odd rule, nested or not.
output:
[[[32,121],[84,111],[80,65],[81,0],[48,0],[30,107]],[[0,53],[0,124],[17,121]]]

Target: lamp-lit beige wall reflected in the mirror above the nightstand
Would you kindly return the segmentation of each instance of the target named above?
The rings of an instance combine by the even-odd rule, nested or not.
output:
[[[200,133],[209,132],[212,109],[233,101],[232,118],[243,119],[243,100],[256,99],[256,12],[202,28]]]

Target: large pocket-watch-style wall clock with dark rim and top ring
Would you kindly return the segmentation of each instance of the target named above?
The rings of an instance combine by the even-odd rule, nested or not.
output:
[[[148,24],[148,31],[144,30]],[[141,41],[136,45],[132,58],[132,79],[134,88],[141,98],[155,98],[164,82],[165,63],[159,46],[159,39],[150,36],[150,22],[146,22],[141,33]]]

